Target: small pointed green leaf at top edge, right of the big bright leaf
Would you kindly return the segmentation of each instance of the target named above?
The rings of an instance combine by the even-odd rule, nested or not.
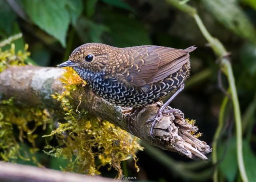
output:
[[[76,20],[82,14],[83,2],[82,0],[66,0],[67,8],[70,14],[71,23],[73,26],[76,25]]]

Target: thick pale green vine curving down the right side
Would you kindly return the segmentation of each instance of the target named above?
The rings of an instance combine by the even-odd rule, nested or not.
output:
[[[228,78],[228,84],[229,84],[230,93],[232,96],[234,115],[235,115],[235,121],[236,121],[236,148],[237,148],[238,167],[239,167],[242,180],[244,182],[248,182],[248,177],[244,167],[243,151],[242,151],[242,123],[241,123],[240,107],[239,107],[232,67],[231,67],[230,61],[227,59],[228,52],[226,51],[222,43],[218,39],[212,37],[212,35],[210,35],[210,33],[207,31],[206,27],[204,26],[204,23],[198,16],[195,8],[193,8],[192,6],[189,6],[188,4],[180,4],[180,1],[178,0],[166,0],[166,2],[168,2],[178,10],[194,18],[202,34],[207,39],[209,45],[212,47],[212,50],[218,57],[222,72],[224,72],[224,74]]]

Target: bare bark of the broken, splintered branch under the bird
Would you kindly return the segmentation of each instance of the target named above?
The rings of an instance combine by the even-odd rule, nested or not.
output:
[[[52,98],[52,94],[64,91],[62,82],[58,79],[64,73],[62,68],[49,67],[12,67],[0,73],[0,95],[4,98],[15,96],[14,102],[20,107],[60,108],[60,103]],[[147,120],[154,118],[160,102],[144,107],[138,114],[129,117],[123,111],[131,108],[114,106],[96,96],[85,86],[84,90],[74,90],[72,98],[78,105],[78,97],[82,94],[82,103],[79,107],[88,110],[90,114],[106,119],[121,129],[143,139],[150,145],[164,150],[176,151],[189,158],[205,156],[211,152],[210,147],[190,134],[196,132],[194,125],[187,123],[184,114],[174,109],[171,114],[164,115],[154,129],[155,139],[149,136],[150,123]],[[170,108],[169,108],[170,109]],[[128,122],[130,118],[130,122]]]

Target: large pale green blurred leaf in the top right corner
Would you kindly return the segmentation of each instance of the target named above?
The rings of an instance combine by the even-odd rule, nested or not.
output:
[[[233,0],[202,0],[209,12],[238,36],[256,43],[256,31],[239,4]]]

